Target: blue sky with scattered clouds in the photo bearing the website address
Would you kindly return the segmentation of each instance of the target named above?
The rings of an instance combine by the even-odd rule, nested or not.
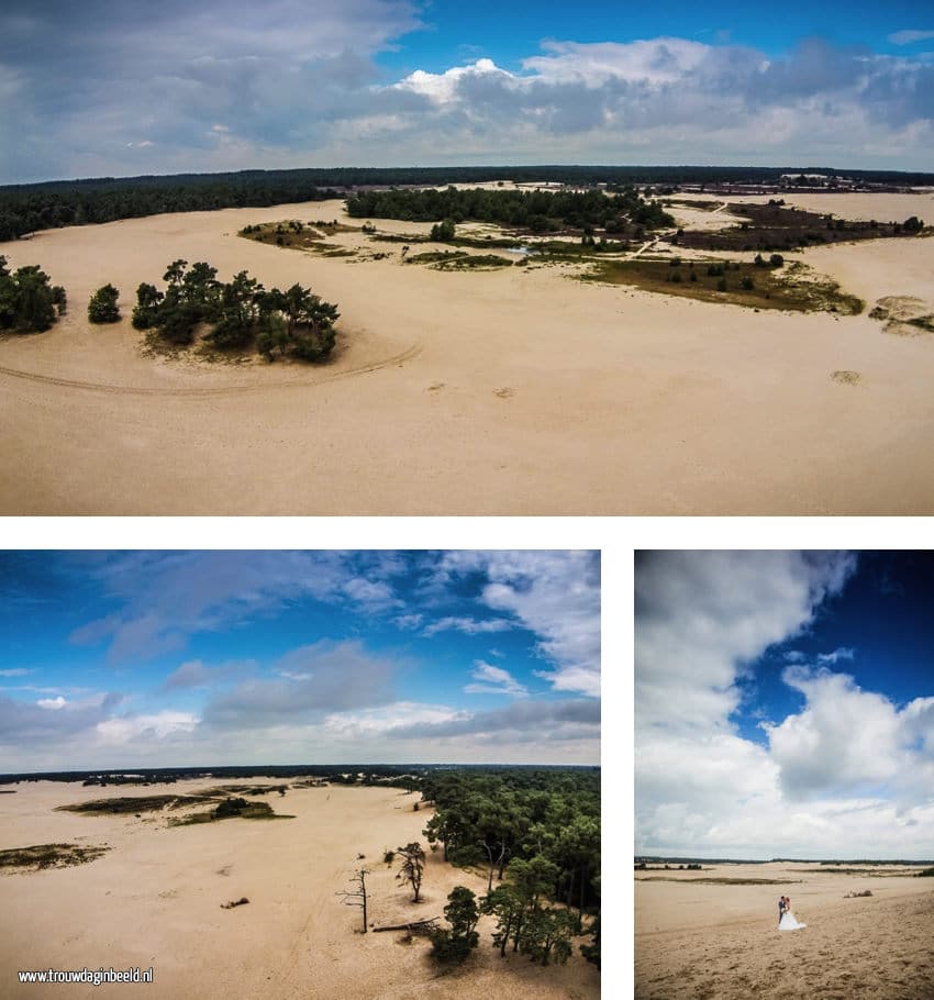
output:
[[[0,773],[599,760],[598,553],[0,553]]]

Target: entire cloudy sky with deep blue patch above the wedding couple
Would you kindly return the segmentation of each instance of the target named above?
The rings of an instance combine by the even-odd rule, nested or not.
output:
[[[635,852],[934,857],[934,554],[641,553]]]

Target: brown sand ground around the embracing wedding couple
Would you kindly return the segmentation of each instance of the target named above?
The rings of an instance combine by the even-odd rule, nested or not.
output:
[[[637,871],[636,1000],[934,997],[932,879],[891,870],[833,875],[820,865],[775,863]],[[699,877],[793,881],[692,881]],[[843,898],[864,889],[872,896]],[[779,896],[791,898],[807,927],[778,931]]]

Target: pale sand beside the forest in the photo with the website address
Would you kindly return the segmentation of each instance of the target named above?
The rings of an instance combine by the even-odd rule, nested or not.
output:
[[[0,796],[0,849],[46,843],[108,844],[76,867],[0,874],[0,996],[341,998],[341,1000],[588,1000],[599,973],[575,954],[541,968],[500,959],[483,918],[480,946],[467,965],[440,974],[426,938],[401,932],[359,934],[360,911],[335,892],[352,888],[360,864],[371,869],[369,919],[377,926],[442,916],[447,893],[486,880],[429,855],[423,901],[394,880],[387,848],[424,838],[430,810],[399,789],[290,789],[268,797],[294,819],[242,819],[169,829],[165,815],[80,815],[54,807],[98,798],[189,793],[216,781],[82,788],[23,784]],[[253,784],[253,782],[251,782]],[[281,784],[271,781],[269,784]],[[265,799],[266,797],[264,797]],[[358,854],[366,855],[364,862]],[[222,909],[246,897],[247,905]],[[18,969],[154,969],[152,986],[19,985]],[[138,991],[138,992],[137,992]]]

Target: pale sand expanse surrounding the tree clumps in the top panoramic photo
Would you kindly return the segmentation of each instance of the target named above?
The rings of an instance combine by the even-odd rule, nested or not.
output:
[[[934,221],[930,193],[788,200]],[[0,245],[69,298],[52,331],[0,342],[0,513],[934,512],[934,335],[897,336],[867,315],[882,297],[934,311],[934,240],[801,254],[867,301],[837,318],[583,285],[572,267],[441,273],[357,233],[345,245],[390,256],[236,236],[290,218],[342,218],[342,203]],[[340,305],[337,357],[309,368],[143,356],[135,288],[162,285],[178,257],[223,279],[247,269],[267,287],[311,286]],[[88,299],[107,281],[124,319],[92,329]]]

